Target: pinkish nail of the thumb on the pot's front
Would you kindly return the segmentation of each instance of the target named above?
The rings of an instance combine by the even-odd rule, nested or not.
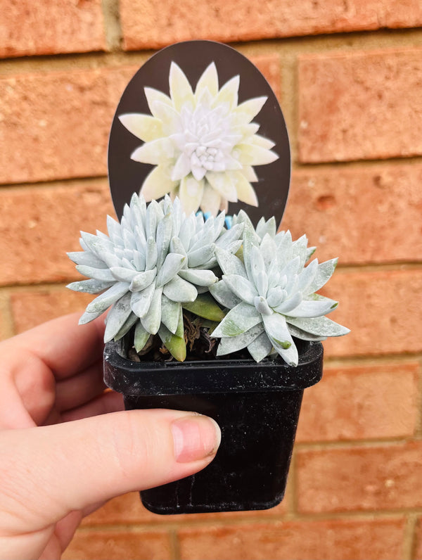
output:
[[[184,416],[172,422],[174,457],[188,463],[211,457],[217,452],[221,432],[217,422],[208,416]]]

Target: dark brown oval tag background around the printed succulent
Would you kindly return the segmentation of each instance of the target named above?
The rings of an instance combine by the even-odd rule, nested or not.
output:
[[[193,91],[205,68],[214,62],[219,77],[219,89],[231,78],[240,75],[238,103],[253,97],[267,96],[264,107],[253,119],[260,125],[257,134],[276,143],[273,151],[279,159],[268,165],[254,166],[259,181],[252,183],[259,201],[258,208],[245,203],[229,203],[229,214],[245,210],[252,222],[261,216],[276,217],[279,224],[286,206],[290,184],[290,146],[286,122],[279,102],[267,80],[248,58],[230,46],[213,41],[187,41],[167,46],[152,56],[131,79],[117,106],[110,130],[108,145],[108,175],[110,191],[117,216],[120,218],[125,203],[132,193],[139,193],[143,180],[152,165],[131,160],[131,153],[141,146],[142,141],[131,134],[118,120],[124,113],[151,115],[144,94],[144,87],[153,87],[170,95],[170,64],[174,61],[188,78]]]

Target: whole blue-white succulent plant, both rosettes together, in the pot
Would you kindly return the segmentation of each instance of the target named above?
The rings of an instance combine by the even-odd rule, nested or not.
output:
[[[82,251],[68,253],[87,280],[68,288],[101,293],[80,324],[106,318],[106,342],[134,328],[136,352],[151,336],[179,361],[186,357],[184,310],[202,317],[214,338],[217,356],[247,348],[260,362],[279,354],[298,364],[293,337],[321,341],[349,332],[326,314],[337,302],[316,293],[334,272],[337,260],[305,264],[315,248],[306,236],[292,240],[276,233],[274,217],[257,227],[241,210],[224,227],[225,215],[186,217],[178,198],[146,205],[134,194],[121,222],[108,216],[108,235],[81,232]],[[210,323],[211,322],[211,323]]]

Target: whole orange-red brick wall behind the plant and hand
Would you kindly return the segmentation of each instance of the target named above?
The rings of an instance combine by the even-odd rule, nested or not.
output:
[[[305,391],[287,495],[264,512],[160,517],[136,494],[78,559],[422,558],[420,0],[0,0],[0,337],[82,309],[79,229],[113,212],[108,130],[129,77],[184,39],[233,44],[279,96],[293,149],[283,227],[338,255],[352,329]]]

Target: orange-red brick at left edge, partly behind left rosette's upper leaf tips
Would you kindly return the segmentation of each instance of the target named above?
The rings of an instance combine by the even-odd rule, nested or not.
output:
[[[0,285],[82,279],[66,252],[79,231],[106,230],[114,215],[106,181],[0,190]]]

